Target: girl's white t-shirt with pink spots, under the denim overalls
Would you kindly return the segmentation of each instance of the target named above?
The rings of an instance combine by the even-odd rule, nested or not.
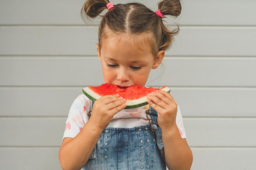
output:
[[[74,138],[88,121],[88,112],[90,111],[91,100],[84,94],[79,95],[73,102],[70,112],[67,117],[65,132],[62,140],[65,137]],[[132,128],[135,126],[149,124],[146,117],[148,105],[139,108],[124,109],[117,113],[108,127],[115,128]],[[186,133],[183,125],[182,114],[178,105],[176,124],[182,138],[186,138]]]

